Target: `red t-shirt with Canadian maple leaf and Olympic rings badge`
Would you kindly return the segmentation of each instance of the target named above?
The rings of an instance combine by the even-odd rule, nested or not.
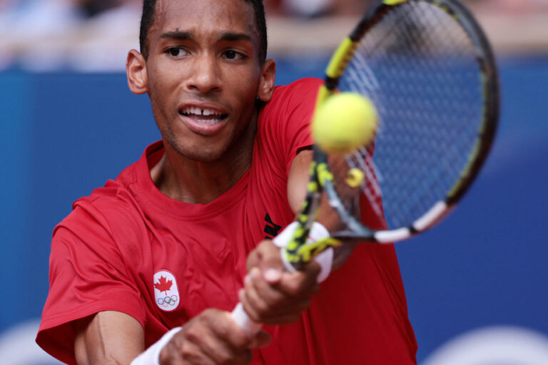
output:
[[[308,130],[318,86],[275,89],[261,111],[250,169],[208,204],[163,195],[149,170],[163,144],[146,148],[105,187],[77,200],[54,230],[50,290],[38,344],[75,364],[70,322],[113,310],[143,326],[146,346],[203,309],[232,310],[245,258],[293,221],[288,170]],[[360,245],[321,285],[300,321],[266,327],[273,342],[253,364],[415,364],[417,345],[392,245]]]

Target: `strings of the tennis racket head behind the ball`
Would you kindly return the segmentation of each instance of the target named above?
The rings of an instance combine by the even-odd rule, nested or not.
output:
[[[388,227],[410,225],[459,179],[482,123],[480,75],[466,31],[430,1],[395,7],[360,41],[339,89],[370,97],[380,120],[374,155],[348,167]]]

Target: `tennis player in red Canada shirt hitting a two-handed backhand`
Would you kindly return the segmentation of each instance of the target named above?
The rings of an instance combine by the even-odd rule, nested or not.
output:
[[[67,364],[416,363],[392,246],[360,245],[348,259],[335,252],[303,272],[283,271],[270,239],[304,198],[322,81],[275,87],[266,48],[260,0],[144,1],[128,84],[148,93],[162,140],[77,200],[55,228],[36,339],[52,356]],[[235,324],[238,301],[263,331]]]

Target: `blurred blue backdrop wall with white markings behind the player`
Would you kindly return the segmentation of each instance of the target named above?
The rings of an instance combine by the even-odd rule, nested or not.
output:
[[[397,245],[419,364],[548,364],[546,51],[499,55],[502,110],[487,165],[447,220]],[[278,85],[321,77],[328,60],[275,58]],[[34,345],[51,232],[74,200],[159,138],[148,98],[128,90],[119,67],[0,72],[1,364],[56,364]]]

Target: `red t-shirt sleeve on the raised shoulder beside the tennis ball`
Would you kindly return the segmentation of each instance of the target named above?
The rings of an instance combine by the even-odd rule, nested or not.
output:
[[[303,78],[280,86],[261,111],[258,138],[282,161],[286,173],[299,150],[313,145],[310,120],[322,84],[318,78]]]

